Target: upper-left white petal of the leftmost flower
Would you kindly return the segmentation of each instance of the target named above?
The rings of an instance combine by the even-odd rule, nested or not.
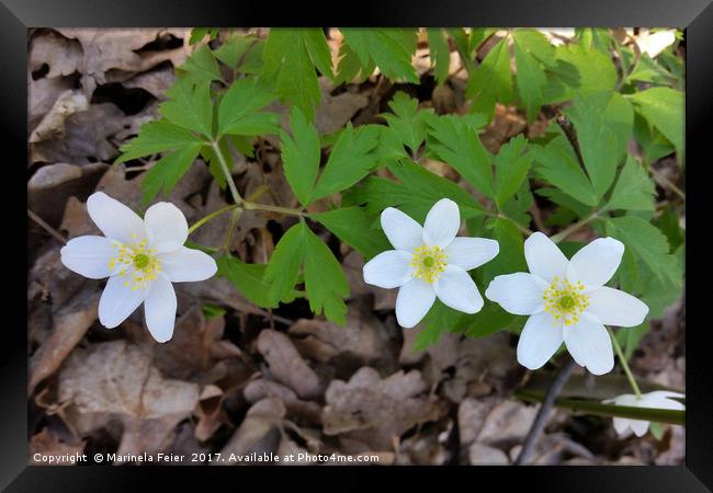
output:
[[[122,243],[140,241],[146,234],[144,221],[132,209],[103,192],[87,199],[87,211],[106,238]]]

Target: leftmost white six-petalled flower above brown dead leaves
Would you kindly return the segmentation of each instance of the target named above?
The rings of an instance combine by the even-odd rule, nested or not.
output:
[[[142,220],[121,202],[97,192],[87,200],[87,210],[104,236],[72,238],[60,253],[70,271],[91,279],[109,277],[99,300],[99,321],[113,329],[144,303],[154,339],[170,340],[177,308],[171,283],[205,280],[216,273],[215,261],[183,246],[189,226],[173,204],[154,204]]]

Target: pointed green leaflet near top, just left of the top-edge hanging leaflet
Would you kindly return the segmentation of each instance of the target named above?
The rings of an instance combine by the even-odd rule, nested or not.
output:
[[[495,113],[495,103],[512,101],[512,74],[507,38],[495,45],[468,79],[466,95],[473,100],[472,110],[484,113],[488,121]]]

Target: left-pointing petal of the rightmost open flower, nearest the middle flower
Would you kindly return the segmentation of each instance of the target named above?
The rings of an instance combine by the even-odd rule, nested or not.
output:
[[[496,276],[485,290],[485,297],[514,314],[533,314],[545,309],[543,295],[547,289],[544,279],[518,272]]]

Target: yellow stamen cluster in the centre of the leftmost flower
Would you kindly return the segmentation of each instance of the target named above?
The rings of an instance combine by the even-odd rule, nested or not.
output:
[[[132,237],[137,239],[136,236]],[[161,262],[156,256],[156,250],[149,248],[148,240],[128,244],[116,242],[116,249],[118,254],[109,261],[109,270],[126,277],[124,286],[131,287],[132,291],[144,289],[161,272]]]

